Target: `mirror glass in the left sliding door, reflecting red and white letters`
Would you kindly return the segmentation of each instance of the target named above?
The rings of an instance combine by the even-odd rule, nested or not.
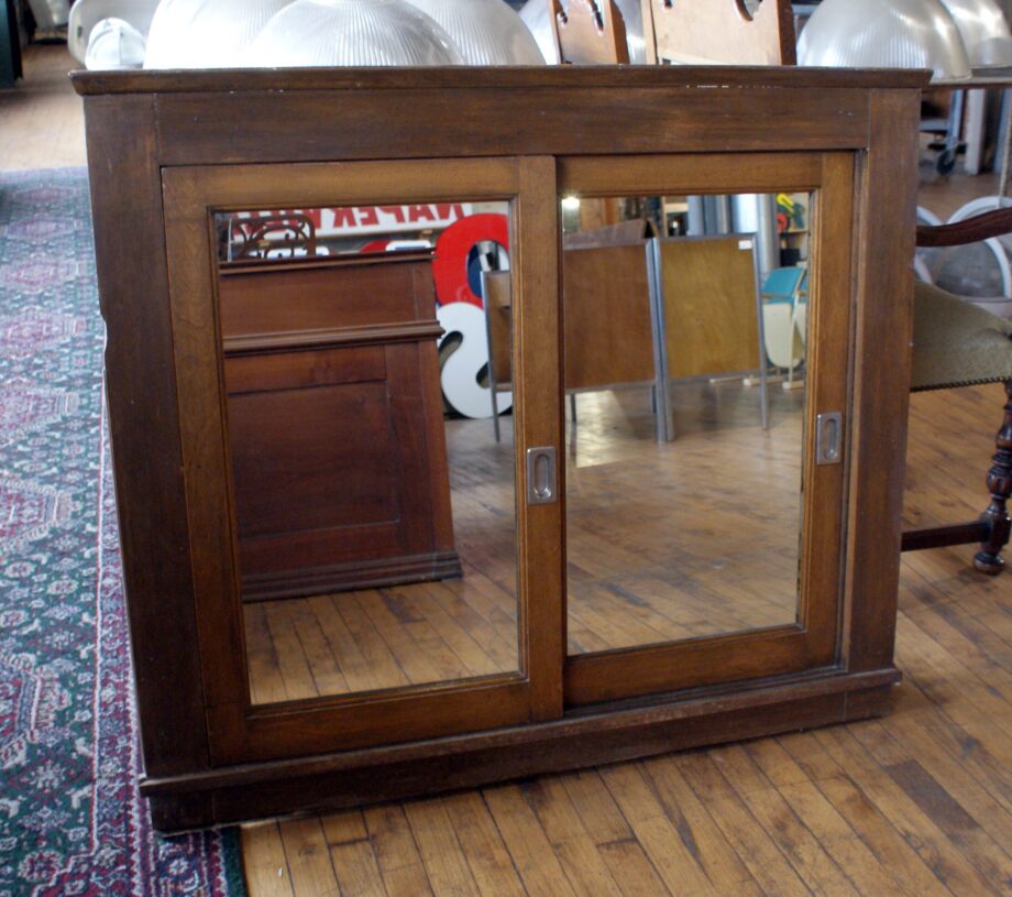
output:
[[[216,214],[254,704],[519,676],[509,212]]]

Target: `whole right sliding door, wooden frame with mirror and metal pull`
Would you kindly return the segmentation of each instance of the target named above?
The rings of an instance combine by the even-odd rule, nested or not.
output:
[[[835,663],[853,165],[562,162],[568,703]]]

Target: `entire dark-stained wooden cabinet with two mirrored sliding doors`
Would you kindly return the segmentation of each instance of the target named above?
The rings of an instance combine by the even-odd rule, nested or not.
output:
[[[924,80],[716,67],[76,74],[156,825],[884,713],[899,680]],[[752,397],[724,428],[722,400],[711,424],[679,431],[688,387],[672,383],[670,444],[637,429],[632,390],[582,394],[570,420],[560,200],[770,194],[811,199],[792,416],[774,408],[762,430]],[[428,258],[372,259],[364,273],[389,283],[360,295],[346,287],[359,262],[293,256],[300,276],[332,277],[326,314],[288,287],[230,305],[241,284],[222,261],[222,216],[426,204],[508,219],[502,441],[487,419],[433,408]],[[616,333],[623,316],[618,300]],[[429,553],[436,567],[404,582],[348,575],[341,551],[375,562],[355,540],[383,527],[395,565]]]

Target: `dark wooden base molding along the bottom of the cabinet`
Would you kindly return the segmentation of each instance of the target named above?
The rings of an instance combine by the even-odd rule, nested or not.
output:
[[[141,791],[165,832],[326,812],[881,716],[900,678],[894,667],[822,671],[583,708],[495,732],[147,777]]]

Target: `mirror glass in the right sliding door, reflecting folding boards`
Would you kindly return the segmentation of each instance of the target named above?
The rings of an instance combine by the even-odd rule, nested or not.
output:
[[[570,654],[796,622],[811,207],[562,197]]]

